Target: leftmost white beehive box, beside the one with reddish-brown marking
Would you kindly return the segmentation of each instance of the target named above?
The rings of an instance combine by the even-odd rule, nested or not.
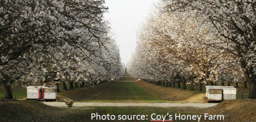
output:
[[[27,99],[38,99],[40,98],[40,88],[42,86],[28,86],[27,87]]]

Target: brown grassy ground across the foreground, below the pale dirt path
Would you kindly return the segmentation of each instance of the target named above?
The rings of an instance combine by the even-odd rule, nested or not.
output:
[[[11,102],[0,102],[0,121],[91,121],[91,113],[107,114],[115,112],[115,110],[129,110],[136,112],[136,108],[127,107],[111,107],[111,108],[97,108],[97,107],[50,107],[35,100],[22,100]],[[147,110],[154,113],[161,108],[140,108],[143,112],[136,113],[143,114]],[[114,110],[114,111],[113,111]],[[153,110],[153,111],[152,111]],[[224,101],[215,107],[211,108],[187,108],[174,107],[163,108],[161,112],[163,115],[166,112],[183,113],[183,114],[199,114],[209,113],[211,115],[223,114],[225,120],[223,121],[256,121],[256,103],[253,100],[230,100]],[[125,111],[125,114],[128,113]],[[152,111],[152,112],[151,112]],[[192,113],[191,113],[192,112]],[[202,116],[203,118],[203,116]],[[99,121],[99,120],[96,120]],[[148,120],[149,121],[149,120]],[[209,121],[209,120],[200,120]],[[217,120],[218,121],[218,120]]]

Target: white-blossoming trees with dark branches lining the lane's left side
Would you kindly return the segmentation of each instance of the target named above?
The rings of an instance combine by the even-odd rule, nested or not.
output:
[[[104,63],[112,64],[115,72],[122,69],[116,44],[104,44],[114,40],[102,19],[107,10],[103,4],[103,0],[0,1],[0,82],[6,98],[12,98],[11,83],[47,82],[51,72],[65,82],[77,81],[78,76],[95,81],[120,77],[120,73],[106,76],[112,71]],[[103,60],[104,55],[115,59]],[[81,75],[90,71],[91,75]]]

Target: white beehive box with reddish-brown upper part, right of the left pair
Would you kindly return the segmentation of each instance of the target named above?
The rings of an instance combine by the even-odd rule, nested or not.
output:
[[[57,87],[45,87],[43,88],[43,99],[56,99]]]

